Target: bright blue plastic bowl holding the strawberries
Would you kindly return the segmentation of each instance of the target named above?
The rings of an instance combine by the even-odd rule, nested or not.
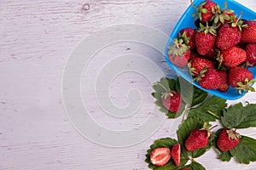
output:
[[[193,3],[195,6],[198,6],[200,3],[202,3],[204,0],[195,0]],[[252,10],[242,6],[240,3],[236,3],[233,0],[226,0],[228,3],[228,8],[235,10],[235,14],[238,16],[241,14],[242,11],[242,19],[247,19],[247,20],[255,20],[256,19],[256,13],[254,13]],[[218,5],[221,8],[224,8],[224,2],[223,0],[213,0],[213,2],[218,3]],[[183,77],[185,80],[191,82],[194,84],[197,88],[201,88],[201,86],[197,82],[192,82],[192,77],[189,74],[188,68],[183,68],[180,69],[175,65],[172,65],[170,60],[168,59],[168,47],[173,44],[174,38],[177,38],[177,33],[181,31],[185,27],[192,27],[196,28],[195,26],[195,18],[192,17],[192,14],[195,13],[195,9],[192,8],[190,5],[189,8],[183,13],[182,17],[180,20],[178,20],[177,25],[174,27],[172,34],[169,38],[169,41],[167,42],[166,45],[166,50],[165,50],[165,56],[166,56],[166,62],[168,65],[171,66],[172,70],[176,71],[178,75]],[[249,68],[250,71],[253,72],[253,79],[256,78],[256,67],[251,67]],[[202,90],[206,91],[209,94],[216,95],[220,98],[223,99],[240,99],[242,96],[244,96],[246,93],[239,94],[236,88],[230,87],[229,90],[226,93],[219,92],[218,90],[207,90],[205,88],[201,88]]]

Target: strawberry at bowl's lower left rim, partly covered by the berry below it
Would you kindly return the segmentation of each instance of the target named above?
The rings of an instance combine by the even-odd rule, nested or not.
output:
[[[201,71],[205,68],[207,69],[214,68],[212,61],[210,61],[209,59],[203,59],[199,57],[195,57],[194,59],[191,59],[188,65],[189,65],[189,71],[191,75],[195,77],[197,77],[201,73]]]

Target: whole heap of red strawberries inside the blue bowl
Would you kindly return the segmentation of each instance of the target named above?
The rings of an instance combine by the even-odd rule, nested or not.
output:
[[[193,4],[192,6],[196,8]],[[206,0],[194,14],[197,30],[186,27],[169,47],[168,57],[189,72],[202,88],[227,92],[255,91],[251,85],[256,65],[256,20],[241,20],[234,11]]]

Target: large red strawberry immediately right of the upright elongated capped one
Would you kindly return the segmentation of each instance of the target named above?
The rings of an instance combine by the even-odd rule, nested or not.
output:
[[[234,47],[241,40],[241,31],[238,27],[225,24],[218,31],[216,46],[221,50]]]

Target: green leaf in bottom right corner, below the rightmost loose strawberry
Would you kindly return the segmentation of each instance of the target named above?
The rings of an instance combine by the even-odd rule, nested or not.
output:
[[[256,140],[241,136],[240,143],[230,150],[230,154],[239,163],[249,164],[250,161],[256,161]]]

